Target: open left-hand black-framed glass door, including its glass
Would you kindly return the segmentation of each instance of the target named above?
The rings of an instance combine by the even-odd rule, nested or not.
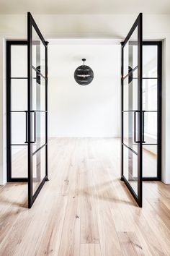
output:
[[[28,207],[48,180],[48,43],[27,14]]]

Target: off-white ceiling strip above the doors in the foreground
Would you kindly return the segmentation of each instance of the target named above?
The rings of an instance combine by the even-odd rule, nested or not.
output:
[[[170,14],[170,0],[0,0],[0,14]]]

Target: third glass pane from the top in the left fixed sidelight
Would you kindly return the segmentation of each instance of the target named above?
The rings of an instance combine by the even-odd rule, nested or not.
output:
[[[24,144],[26,140],[26,114],[22,112],[12,112],[11,118],[12,144]]]

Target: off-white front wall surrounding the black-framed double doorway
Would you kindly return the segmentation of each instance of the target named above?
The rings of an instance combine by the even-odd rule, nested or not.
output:
[[[34,15],[34,17],[46,38],[125,38],[136,15]],[[27,38],[27,16],[0,15],[0,184],[6,182],[4,38]],[[143,38],[164,39],[162,169],[163,181],[170,183],[170,15],[144,14]]]

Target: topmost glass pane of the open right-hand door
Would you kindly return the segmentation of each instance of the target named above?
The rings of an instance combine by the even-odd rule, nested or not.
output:
[[[136,27],[130,40],[123,48],[123,54],[123,76],[125,77],[131,69],[138,67],[138,27]]]

